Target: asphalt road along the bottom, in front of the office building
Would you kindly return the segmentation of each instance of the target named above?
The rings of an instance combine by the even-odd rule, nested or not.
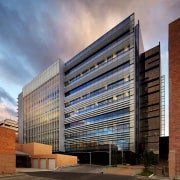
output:
[[[80,165],[58,168],[55,171],[19,168],[16,174],[0,176],[0,180],[138,180],[136,176],[103,174],[103,166]],[[140,177],[140,180],[147,178]]]

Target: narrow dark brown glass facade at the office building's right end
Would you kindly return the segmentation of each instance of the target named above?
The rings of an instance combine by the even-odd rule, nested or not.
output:
[[[143,53],[139,66],[139,150],[142,152],[147,149],[159,154],[161,123],[160,45]]]

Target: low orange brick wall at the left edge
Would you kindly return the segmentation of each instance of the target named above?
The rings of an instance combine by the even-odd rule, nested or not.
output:
[[[0,174],[16,171],[15,143],[15,131],[0,127]]]

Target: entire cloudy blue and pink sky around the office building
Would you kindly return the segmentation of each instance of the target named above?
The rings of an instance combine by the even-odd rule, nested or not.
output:
[[[179,0],[0,0],[0,120],[17,120],[18,94],[35,76],[132,13],[144,49],[161,43],[168,127],[168,24],[180,17]]]

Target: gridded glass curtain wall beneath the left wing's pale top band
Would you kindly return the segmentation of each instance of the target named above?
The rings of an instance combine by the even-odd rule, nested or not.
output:
[[[58,149],[59,76],[24,97],[24,143],[39,142]]]

